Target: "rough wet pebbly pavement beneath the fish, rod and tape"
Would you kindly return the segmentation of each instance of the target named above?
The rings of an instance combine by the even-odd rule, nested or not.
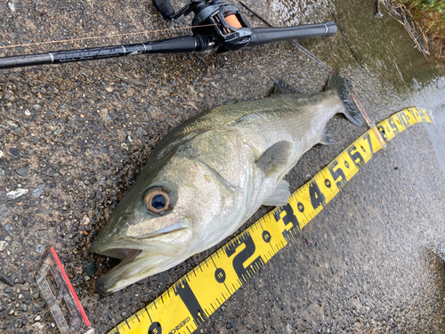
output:
[[[3,70],[0,75],[0,324],[7,333],[57,332],[34,276],[54,246],[93,327],[106,332],[149,304],[215,248],[109,297],[94,281],[117,260],[91,242],[170,128],[217,104],[260,99],[276,78],[320,91],[330,69],[349,79],[371,118],[410,105],[433,111],[376,154],[297,238],[197,332],[445,333],[445,83],[401,25],[373,18],[374,2],[245,1],[273,24],[336,20],[335,37],[239,53],[134,56]],[[15,11],[11,6],[14,4]],[[184,2],[176,2],[179,7]],[[295,9],[296,8],[296,9]],[[246,12],[247,13],[247,12]],[[0,45],[187,26],[150,2],[39,0],[0,4]],[[263,23],[247,15],[252,26]],[[138,43],[156,35],[0,49],[0,55]],[[184,33],[190,33],[186,30]],[[365,127],[334,118],[334,146],[307,152],[292,190]],[[430,139],[431,138],[431,139]],[[442,169],[443,168],[443,169]],[[261,208],[247,224],[262,216]],[[97,265],[87,273],[87,264]]]

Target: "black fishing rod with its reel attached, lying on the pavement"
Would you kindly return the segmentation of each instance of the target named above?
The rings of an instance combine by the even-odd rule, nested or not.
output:
[[[134,45],[111,45],[52,53],[26,54],[0,58],[0,69],[91,61],[143,53],[192,53],[216,49],[217,53],[237,51],[245,46],[265,45],[292,39],[331,37],[336,22],[328,21],[295,27],[250,28],[239,8],[221,0],[191,0],[174,12],[169,0],[153,0],[165,20],[176,20],[191,12],[193,35],[172,37]]]

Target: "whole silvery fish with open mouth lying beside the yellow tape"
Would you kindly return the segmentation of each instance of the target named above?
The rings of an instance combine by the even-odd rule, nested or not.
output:
[[[101,275],[102,295],[161,273],[222,241],[264,206],[290,197],[284,176],[343,113],[363,120],[343,77],[299,94],[282,80],[256,101],[230,102],[190,118],[159,141],[134,184],[93,241],[95,253],[122,261]]]

